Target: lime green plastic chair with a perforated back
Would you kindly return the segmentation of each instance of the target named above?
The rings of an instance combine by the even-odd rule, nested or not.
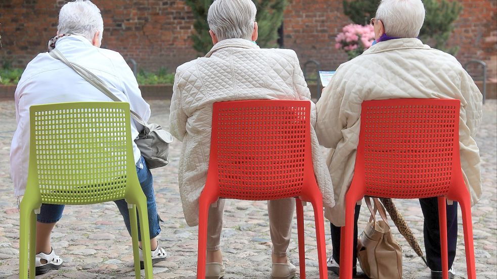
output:
[[[147,199],[131,145],[129,103],[68,102],[32,105],[29,170],[21,202],[19,278],[35,277],[36,214],[41,203],[84,205],[125,199],[134,270],[140,274],[137,208],[145,277],[153,278]],[[29,253],[28,253],[29,245]]]

